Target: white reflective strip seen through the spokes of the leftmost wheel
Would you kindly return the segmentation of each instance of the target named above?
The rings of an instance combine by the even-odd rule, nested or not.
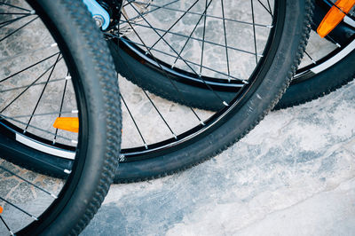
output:
[[[59,149],[56,147],[43,145],[43,144],[37,142],[36,140],[33,140],[33,139],[28,138],[26,136],[20,135],[19,133],[16,133],[16,141],[20,142],[21,144],[23,144],[25,146],[29,146],[33,149],[41,151],[43,153],[49,153],[51,155],[55,155],[55,156],[70,159],[70,160],[75,159],[75,152],[65,151],[63,149]]]

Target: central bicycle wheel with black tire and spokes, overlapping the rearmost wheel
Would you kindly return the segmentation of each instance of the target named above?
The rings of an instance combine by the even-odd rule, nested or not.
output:
[[[122,75],[127,76],[130,81],[137,83],[143,89],[151,91],[149,88],[151,84],[159,84],[158,89],[161,89],[163,93],[171,96],[175,94],[181,100],[186,98],[186,92],[189,93],[189,91],[184,87],[186,84],[180,82],[185,79],[200,79],[200,87],[197,87],[201,90],[209,90],[213,100],[218,105],[225,106],[225,108],[217,113],[210,113],[210,116],[205,120],[200,119],[201,117],[193,117],[195,115],[193,111],[196,111],[196,114],[201,114],[201,111],[193,109],[191,104],[189,104],[189,107],[182,108],[185,109],[185,113],[181,116],[169,117],[169,114],[167,114],[165,117],[169,117],[169,120],[175,118],[172,122],[165,119],[166,128],[172,130],[170,134],[172,138],[147,144],[146,139],[151,138],[144,137],[144,133],[146,127],[152,126],[152,119],[149,119],[147,114],[143,114],[145,111],[142,107],[130,107],[134,106],[134,101],[125,101],[130,98],[131,91],[125,90],[127,83],[123,82],[124,85],[121,87],[124,103],[123,121],[131,120],[134,125],[132,124],[132,129],[128,130],[126,129],[127,122],[123,122],[122,159],[120,169],[117,169],[115,182],[137,181],[174,173],[205,161],[231,146],[248,133],[248,130],[251,130],[277,102],[280,94],[287,86],[285,78],[290,78],[302,57],[302,51],[310,30],[307,27],[312,12],[310,2],[274,1],[271,3],[265,1],[265,4],[254,3],[253,1],[229,1],[227,4],[224,1],[216,1],[213,4],[211,4],[211,1],[177,2],[149,3],[152,9],[143,13],[136,9],[136,17],[138,15],[140,21],[134,20],[134,15],[131,18],[133,20],[127,19],[125,14],[121,15],[122,24],[129,25],[131,33],[129,35],[118,35],[120,37],[117,42],[119,47],[113,43],[114,38],[116,38],[114,33],[106,34],[113,38],[110,42],[110,49],[111,51],[115,50],[113,53],[114,61],[122,63],[122,67],[117,69]],[[136,8],[129,2],[126,5],[123,4],[123,7],[130,7],[133,11]],[[229,11],[224,12],[224,9]],[[236,15],[236,9],[240,10],[240,19],[233,18]],[[159,11],[162,11],[162,15],[158,13]],[[129,12],[129,10],[126,12]],[[156,19],[150,19],[150,17]],[[185,17],[187,17],[186,20]],[[270,19],[272,21],[268,21]],[[184,22],[179,26],[180,20]],[[224,28],[224,24],[227,26],[227,23],[225,23],[227,20],[234,20],[233,23],[243,26],[249,23],[249,28],[247,27],[248,29],[242,31],[244,34],[241,35],[241,38],[233,37],[231,31],[235,30],[238,33],[241,33],[241,31],[230,25]],[[228,24],[232,23],[228,22]],[[217,26],[221,29],[219,35],[222,36],[218,36]],[[238,27],[241,26],[238,25]],[[227,28],[230,30],[228,31]],[[193,35],[194,30],[200,32],[200,38],[198,35]],[[215,35],[210,35],[213,32]],[[238,43],[245,43],[247,38],[252,43],[242,44],[243,50],[239,51],[232,40],[225,42],[228,34]],[[251,34],[251,37],[248,37],[248,34]],[[256,38],[253,34],[257,35]],[[159,43],[156,43],[157,41]],[[186,41],[193,41],[193,46],[190,45],[189,47]],[[232,54],[235,53],[233,59],[240,59],[236,62],[248,61],[248,65],[253,65],[251,68],[248,67],[249,74],[246,71],[241,72],[242,66],[238,67],[238,63],[233,64],[237,67],[233,71],[232,66],[229,67],[229,79],[234,87],[233,92],[228,92],[228,94],[233,93],[233,98],[228,99],[225,98],[224,93],[216,89],[219,82],[225,83],[225,81],[228,81],[228,76],[226,76],[228,75],[228,65],[223,64],[223,68],[214,67],[217,59],[213,57],[215,53],[210,52],[220,50],[221,44],[223,45],[222,51],[228,49],[228,53],[225,52],[223,55],[225,57],[228,54],[231,57],[230,63],[233,58]],[[189,47],[188,50],[187,47]],[[201,50],[198,54],[200,57],[195,59],[194,62],[192,59],[194,55],[193,47]],[[207,52],[203,52],[203,47],[207,49]],[[185,49],[186,52],[184,53]],[[169,53],[174,54],[175,57],[170,57],[162,51],[170,51]],[[256,53],[250,55],[248,54],[250,51]],[[244,53],[250,55],[250,57],[248,59],[243,58],[241,55]],[[263,57],[258,57],[261,55]],[[206,63],[203,62],[204,59],[207,60]],[[240,75],[244,73],[246,76],[240,77],[237,72]],[[215,75],[215,77],[211,75]],[[187,85],[187,88],[190,88],[190,85]],[[154,98],[143,90],[142,96],[146,95],[147,98]],[[197,91],[194,91],[192,96],[192,100],[201,102],[204,99],[208,100],[205,94]],[[155,99],[159,102],[159,98]],[[190,99],[187,98],[186,100]],[[181,103],[186,104],[185,102]],[[163,108],[160,110],[154,104],[152,104],[152,107],[155,107],[152,108],[153,111],[162,114],[159,116],[163,120]],[[161,107],[164,107],[164,105]],[[137,110],[142,116],[141,119],[139,119]],[[190,116],[187,115],[188,111],[192,111]],[[195,119],[200,124],[176,134],[174,128],[175,130],[182,130],[181,127],[185,123],[189,123],[188,119]],[[178,124],[175,124],[174,121]],[[151,135],[161,135],[160,131],[154,130],[154,127],[158,127],[158,125],[153,125]],[[125,132],[127,132],[127,136]],[[132,139],[132,134],[135,132],[139,134],[143,146],[131,148],[130,146],[134,144],[128,142],[127,139]]]

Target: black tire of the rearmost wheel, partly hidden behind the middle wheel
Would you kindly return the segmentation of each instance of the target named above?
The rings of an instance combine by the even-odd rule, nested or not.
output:
[[[327,13],[327,9],[330,7],[323,3],[323,0],[317,1],[315,17],[312,19],[312,28],[316,29],[319,22],[323,19]],[[355,29],[345,24],[340,24],[332,32],[331,36],[338,43],[345,45],[349,42],[349,37],[355,33]],[[344,36],[346,35],[346,36]],[[175,84],[181,92],[171,86],[170,81],[166,78],[166,75],[155,68],[149,67],[140,62],[139,55],[135,55],[135,52],[131,51],[127,43],[120,42],[122,50],[114,50],[114,45],[111,45],[110,49],[114,56],[114,62],[117,65],[125,63],[127,67],[117,67],[119,73],[126,77],[130,82],[137,84],[139,87],[144,88],[157,96],[169,99],[185,106],[193,106],[205,110],[218,111],[223,107],[220,101],[216,99],[216,96],[209,88],[203,86],[201,83],[192,83],[191,81],[185,81],[176,76],[171,76],[175,79]],[[335,53],[334,53],[335,54]],[[124,61],[124,62],[123,62]],[[334,66],[335,68],[329,68],[319,74],[307,74],[299,75],[302,71],[296,72],[297,80],[292,82],[280,99],[275,109],[286,108],[289,106],[295,106],[307,101],[311,101],[314,98],[319,98],[336,90],[343,84],[350,82],[355,75],[354,54],[346,56],[345,59],[339,61]],[[351,62],[351,64],[348,64]],[[339,67],[339,68],[336,68]],[[132,76],[130,68],[135,68],[135,75]],[[340,68],[346,68],[345,70],[339,70]],[[342,72],[337,74],[336,72]],[[223,85],[221,83],[214,87],[217,90],[218,95],[225,101],[229,101],[233,98],[233,87],[229,84]],[[203,98],[203,99],[202,99]]]

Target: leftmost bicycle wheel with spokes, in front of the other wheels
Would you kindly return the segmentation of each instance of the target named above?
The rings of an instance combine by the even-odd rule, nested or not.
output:
[[[117,164],[121,114],[113,61],[81,1],[3,1],[0,18],[1,234],[78,234]],[[77,133],[53,128],[71,108]],[[65,180],[7,162],[23,155],[28,162],[20,164],[30,165],[52,151],[73,153]]]

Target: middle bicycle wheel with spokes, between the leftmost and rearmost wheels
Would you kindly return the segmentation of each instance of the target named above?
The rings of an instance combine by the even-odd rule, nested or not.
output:
[[[112,4],[117,1],[98,2],[112,17],[114,11],[110,11],[110,8],[107,7],[112,7]],[[157,70],[164,78],[164,82],[170,83],[170,90],[179,95],[185,90],[181,90],[175,79],[180,80],[185,77],[202,79],[201,86],[207,87],[214,99],[224,108],[217,113],[210,113],[194,109],[191,106],[179,106],[154,97],[146,90],[142,90],[120,77],[123,129],[121,163],[114,179],[116,183],[160,177],[192,167],[222,152],[245,136],[248,130],[254,128],[257,122],[272,108],[288,86],[289,80],[302,58],[310,31],[309,22],[312,12],[312,1],[267,1],[266,4],[253,1],[241,1],[240,3],[198,0],[162,1],[158,5],[151,4],[154,7],[154,15],[149,11],[143,12],[146,17],[159,16],[157,20],[151,21],[141,17],[141,8],[137,8],[141,4],[147,3],[125,2],[121,14],[122,24],[115,25],[119,19],[112,18],[113,25],[105,31],[111,51],[118,51],[114,53],[115,63],[120,61],[126,73],[132,74],[131,77],[144,75],[147,81],[156,78],[146,76],[142,72],[142,68],[149,67],[154,71]],[[222,4],[224,4],[223,7]],[[120,7],[114,7],[114,9],[120,9]],[[240,11],[239,18],[233,19],[233,15],[235,15],[233,11],[236,9]],[[134,14],[139,15],[137,20],[124,19],[130,15],[134,19]],[[222,14],[225,14],[225,17]],[[166,63],[162,62],[163,55],[149,50],[151,45],[146,45],[148,43],[146,41],[152,43],[150,40],[157,40],[162,35],[157,34],[154,26],[149,27],[151,30],[150,33],[148,32],[149,34],[139,31],[146,29],[146,27],[139,29],[138,24],[148,25],[146,21],[156,24],[163,21],[160,27],[165,28],[170,28],[172,25],[177,27],[178,23],[174,24],[176,21],[187,22],[190,24],[189,26],[185,24],[179,26],[179,29],[187,30],[185,36],[182,36],[185,40],[181,38],[169,38],[168,40],[168,38],[162,37],[164,39],[161,42],[162,46],[171,46],[175,49],[179,45],[177,42],[180,42],[181,50],[187,36],[187,38],[193,38],[193,42],[198,42],[193,46],[185,46],[190,48],[189,51],[192,55],[193,51],[191,50],[193,49],[200,49],[198,54],[201,55],[202,47],[206,50],[209,49],[209,53],[203,54],[204,59],[201,60],[202,57],[197,59],[199,66],[185,59],[185,57],[190,57],[187,53],[187,55],[181,54],[183,60],[180,59],[180,63],[183,63],[183,66],[176,64],[173,68],[168,67]],[[225,33],[227,31],[222,27],[220,28],[221,34],[226,35],[222,39],[217,34],[209,35],[217,32],[213,28],[215,25],[227,25],[226,21],[228,24],[232,22],[235,32]],[[133,27],[133,25],[137,25],[137,27]],[[131,35],[121,37],[119,31],[121,28]],[[200,32],[201,38],[204,35],[205,40],[196,36],[188,37],[195,30]],[[242,33],[238,34],[241,38],[233,37],[233,33]],[[117,41],[116,39],[119,37],[120,41]],[[241,74],[246,75],[244,79],[233,79],[232,76],[235,76],[231,70],[231,83],[235,85],[233,88],[234,97],[231,99],[225,99],[223,94],[216,91],[219,86],[218,82],[225,82],[228,78],[208,76],[210,70],[206,69],[208,65],[214,64],[214,59],[211,58],[214,54],[210,52],[215,49],[209,47],[212,45],[220,48],[222,44],[224,45],[222,49],[225,51],[225,37],[230,40],[227,41],[228,51],[233,48],[233,51],[229,51],[228,55],[231,54],[232,57],[234,53],[234,59],[235,57],[242,59],[244,64],[237,63],[237,67],[241,68]],[[131,41],[133,39],[135,42]],[[222,43],[216,45],[216,43],[211,43],[212,40],[222,40]],[[233,42],[237,40],[238,43],[246,43],[243,45],[244,49],[234,50],[237,48]],[[130,51],[134,50],[134,53],[142,51],[146,60],[128,57],[127,51],[122,50],[122,47],[128,42],[133,42],[130,43]],[[209,45],[206,42],[209,42]],[[165,58],[164,61],[166,61]],[[142,64],[147,67],[142,67]],[[217,72],[220,70],[220,73],[216,72],[216,75],[227,75],[224,72],[226,69],[226,65],[223,65],[223,69],[216,68]],[[238,72],[238,69],[233,70],[233,73]],[[122,69],[120,71],[122,72]],[[201,88],[201,90],[205,89]],[[231,93],[228,92],[228,94]],[[199,94],[195,96],[199,99],[203,98]],[[181,98],[185,98],[184,94],[181,95]],[[61,171],[66,168],[66,161],[65,158],[59,156],[51,159],[51,163]]]

